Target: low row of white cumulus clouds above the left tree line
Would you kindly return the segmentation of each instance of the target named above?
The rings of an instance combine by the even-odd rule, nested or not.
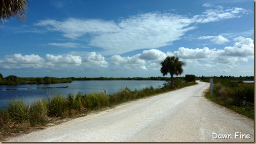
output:
[[[0,60],[0,67],[3,68],[71,68],[71,67],[87,67],[99,68],[107,67],[108,62],[104,56],[90,52],[85,56],[66,54],[53,55],[46,54],[45,58],[39,55],[22,55],[20,53],[6,55],[5,59]]]

